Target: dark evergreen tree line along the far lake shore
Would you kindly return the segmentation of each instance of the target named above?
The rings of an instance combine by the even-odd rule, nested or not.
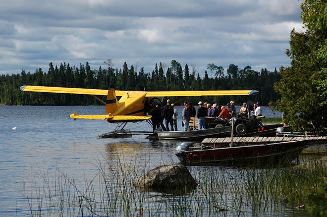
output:
[[[20,86],[39,85],[54,87],[108,89],[110,85],[116,90],[141,91],[182,91],[182,90],[258,90],[260,93],[252,98],[268,105],[270,101],[279,99],[273,90],[273,84],[281,78],[275,69],[273,72],[266,68],[255,71],[251,66],[239,69],[237,65],[230,64],[224,73],[221,66],[214,63],[207,65],[204,77],[200,77],[196,65],[184,68],[176,60],[171,60],[169,67],[165,63],[156,63],[152,72],[145,72],[144,67],[138,70],[138,65],[130,67],[125,62],[122,68],[112,67],[112,60],[105,61],[107,68],[101,66],[98,70],[91,69],[88,62],[79,67],[70,66],[69,63],[60,63],[59,67],[49,63],[48,72],[42,68],[34,73],[26,73],[23,69],[20,74],[0,76],[0,104],[2,105],[99,105],[97,100],[87,95],[51,94],[21,92]],[[105,99],[103,96],[101,99]],[[170,98],[172,102],[179,98]],[[226,104],[230,100],[241,105],[246,102],[245,96],[228,97],[189,97],[188,101],[197,104],[199,100],[208,103]]]

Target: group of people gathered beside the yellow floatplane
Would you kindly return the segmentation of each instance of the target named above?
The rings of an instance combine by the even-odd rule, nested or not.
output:
[[[205,129],[205,117],[221,117],[229,119],[236,115],[236,108],[234,106],[234,101],[227,103],[226,107],[221,105],[211,105],[209,103],[204,103],[200,101],[198,103],[199,109],[193,107],[192,103],[184,102],[184,109],[182,111],[182,121],[184,126],[184,131],[189,127],[189,121],[191,117],[198,117],[198,129]],[[254,104],[254,110],[251,111],[255,116],[262,115],[262,109],[260,107],[260,102]],[[174,108],[174,104],[170,104],[170,100],[167,100],[167,105],[163,107],[163,115],[161,115],[161,110],[157,105],[155,109],[150,113],[152,115],[153,130],[156,130],[160,126],[163,128],[163,131],[177,131],[177,109]],[[246,103],[243,103],[243,107],[240,109],[239,114],[243,117],[247,117],[248,108]],[[163,116],[163,118],[160,118]],[[163,119],[165,126],[163,125]],[[170,125],[170,129],[169,129]]]

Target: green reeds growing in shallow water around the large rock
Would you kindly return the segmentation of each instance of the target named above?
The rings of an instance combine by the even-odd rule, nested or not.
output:
[[[126,162],[125,162],[126,163]],[[320,189],[327,167],[235,168],[191,166],[199,186],[184,195],[141,191],[133,181],[145,174],[142,163],[98,161],[94,177],[77,181],[57,171],[54,180],[24,186],[31,215],[60,216],[293,216],[295,206]],[[288,215],[289,214],[289,215]]]

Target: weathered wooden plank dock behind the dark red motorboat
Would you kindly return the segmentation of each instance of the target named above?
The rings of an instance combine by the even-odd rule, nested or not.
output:
[[[259,145],[267,143],[277,143],[296,140],[310,140],[308,144],[326,144],[327,136],[308,136],[308,137],[235,137],[233,146]],[[211,146],[213,148],[229,146],[231,137],[208,138],[202,141],[202,147]]]

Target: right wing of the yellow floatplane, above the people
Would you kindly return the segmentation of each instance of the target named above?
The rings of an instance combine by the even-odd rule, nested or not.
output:
[[[256,90],[150,91],[146,93],[146,97],[249,96],[258,93]]]

